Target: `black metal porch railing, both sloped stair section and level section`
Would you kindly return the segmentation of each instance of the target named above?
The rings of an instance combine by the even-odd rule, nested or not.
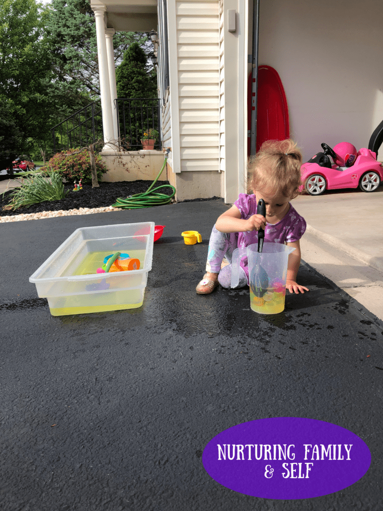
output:
[[[154,149],[162,149],[160,99],[115,99],[113,115],[118,119],[118,143],[125,150],[142,149],[141,140],[153,134]],[[51,129],[54,152],[103,141],[101,103],[94,101]]]

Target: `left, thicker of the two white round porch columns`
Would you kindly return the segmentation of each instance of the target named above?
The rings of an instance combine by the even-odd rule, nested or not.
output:
[[[108,57],[106,52],[105,40],[105,22],[104,13],[106,6],[93,7],[96,35],[97,35],[97,54],[99,58],[99,71],[100,71],[100,92],[101,92],[101,108],[103,115],[103,132],[104,132],[104,149],[113,149],[114,129],[113,129],[113,116],[110,99],[110,84],[108,72]],[[109,143],[112,144],[109,144]]]

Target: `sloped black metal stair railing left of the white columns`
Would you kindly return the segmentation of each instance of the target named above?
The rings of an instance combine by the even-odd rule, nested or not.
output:
[[[93,101],[51,129],[54,151],[84,147],[103,140],[101,103]]]

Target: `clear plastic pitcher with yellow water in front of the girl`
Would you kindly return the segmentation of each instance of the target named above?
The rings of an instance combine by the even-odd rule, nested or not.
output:
[[[247,258],[250,284],[250,307],[260,314],[278,314],[284,309],[289,254],[295,248],[281,243],[264,243],[236,248],[231,261],[231,287],[240,280],[240,262]]]

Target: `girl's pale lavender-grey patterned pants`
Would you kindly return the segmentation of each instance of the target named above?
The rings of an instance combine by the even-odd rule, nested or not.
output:
[[[221,233],[214,225],[209,240],[206,271],[209,271],[210,273],[219,273],[218,282],[224,288],[231,287],[231,258],[233,251],[238,248],[237,243],[238,233]],[[229,264],[221,270],[221,263],[224,257],[227,259]],[[244,269],[240,267],[240,282],[237,287],[241,288],[247,285],[246,273]]]

